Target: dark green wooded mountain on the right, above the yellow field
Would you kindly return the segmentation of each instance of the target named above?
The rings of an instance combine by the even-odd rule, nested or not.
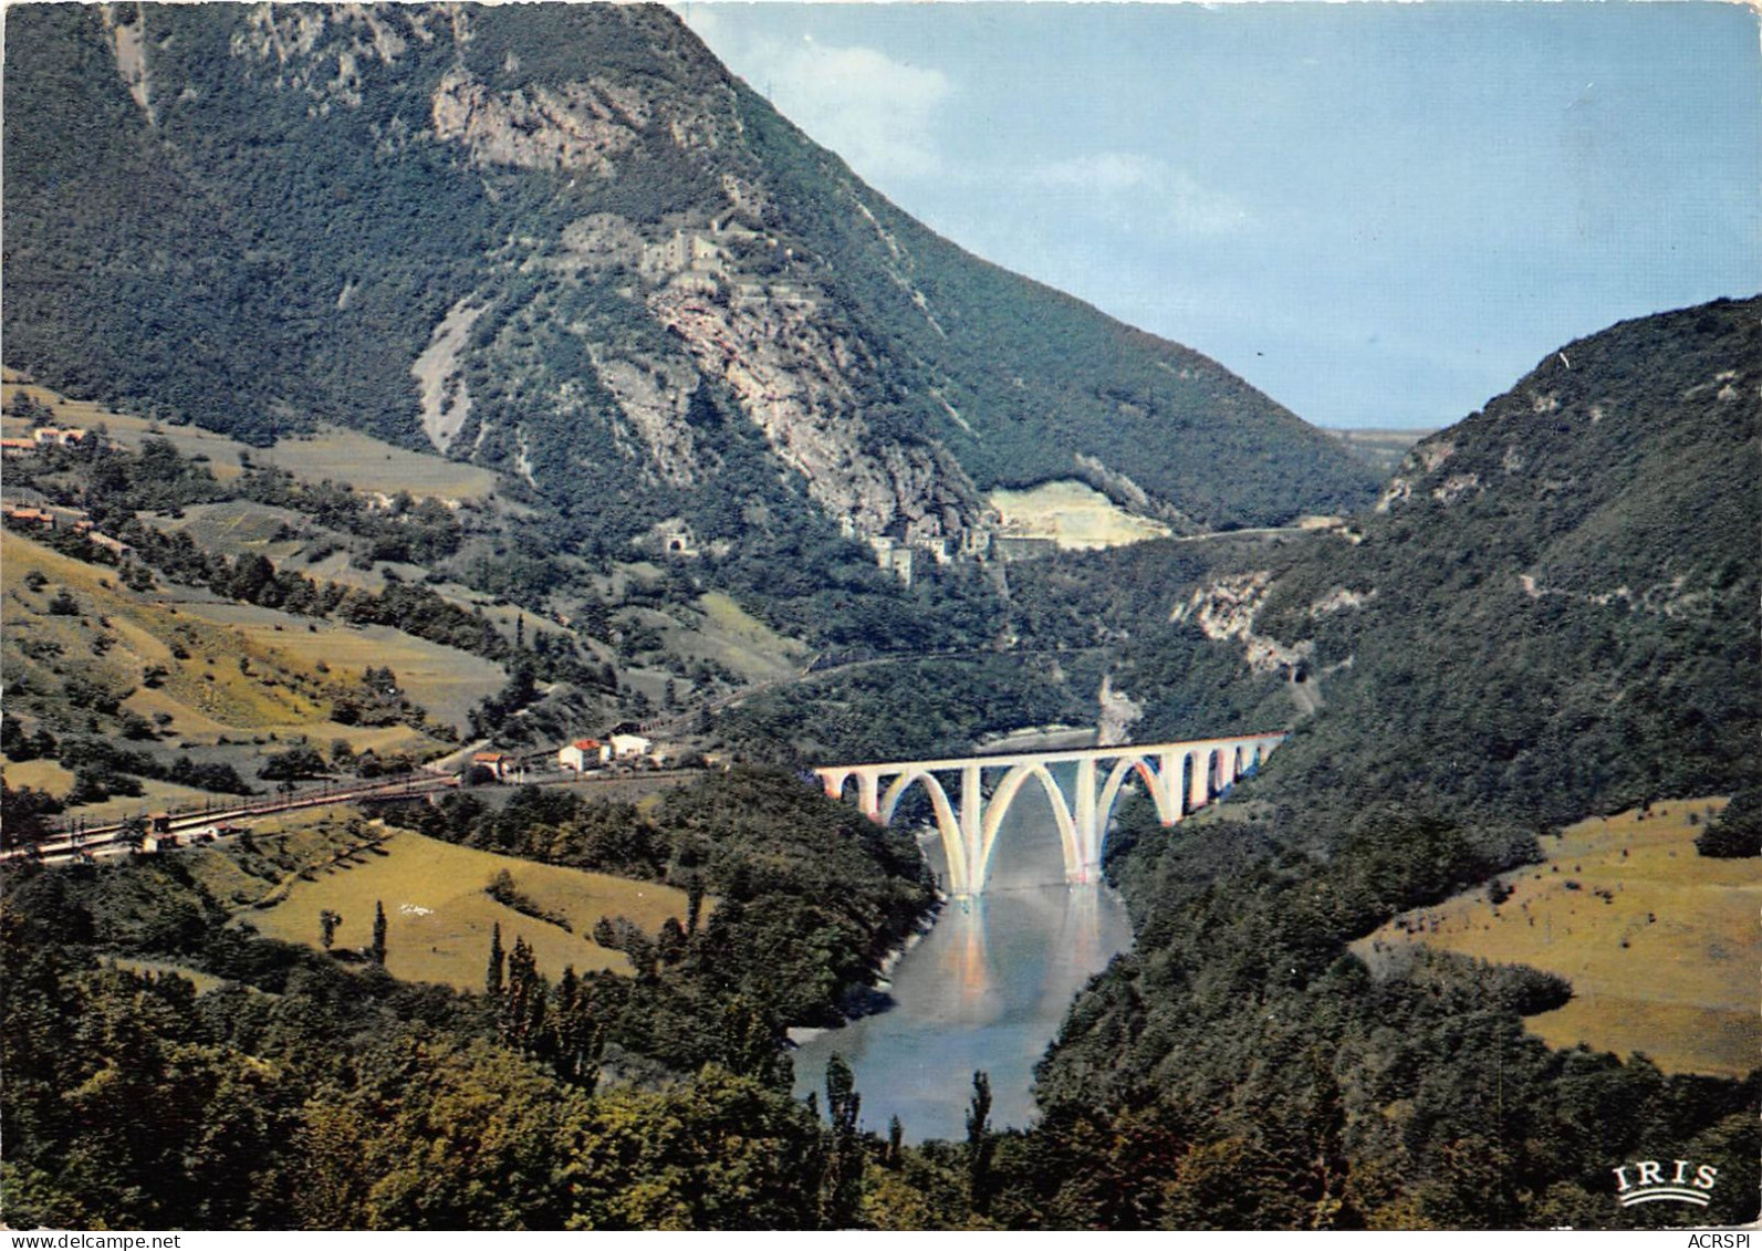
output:
[[[1755,777],[1758,312],[1565,345],[1272,578],[1253,631],[1329,675],[1292,768],[1540,823]]]

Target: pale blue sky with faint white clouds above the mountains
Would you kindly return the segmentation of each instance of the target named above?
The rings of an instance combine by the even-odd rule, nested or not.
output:
[[[990,261],[1332,426],[1438,426],[1623,317],[1762,291],[1736,4],[691,4]]]

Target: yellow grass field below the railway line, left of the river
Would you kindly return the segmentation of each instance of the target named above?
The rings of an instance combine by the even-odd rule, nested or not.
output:
[[[483,888],[502,869],[520,893],[567,918],[574,932],[490,899]],[[331,909],[344,918],[337,946],[365,948],[374,936],[375,902],[386,907],[386,969],[405,981],[458,988],[483,987],[497,923],[506,948],[523,937],[539,971],[557,978],[564,966],[576,973],[631,971],[622,953],[592,941],[601,916],[627,916],[648,934],[668,916],[685,918],[685,893],[671,886],[539,865],[403,830],[374,851],[315,870],[312,881],[296,879],[282,902],[243,916],[270,937],[319,946],[319,913]]]

